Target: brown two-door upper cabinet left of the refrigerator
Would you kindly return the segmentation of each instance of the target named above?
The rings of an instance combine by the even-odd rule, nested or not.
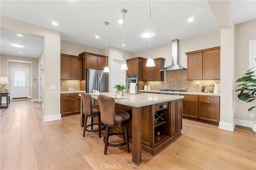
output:
[[[60,54],[60,80],[82,80],[83,59]]]

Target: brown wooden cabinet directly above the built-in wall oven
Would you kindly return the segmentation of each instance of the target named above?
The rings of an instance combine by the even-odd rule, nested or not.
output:
[[[127,59],[126,65],[128,70],[126,70],[126,75],[138,75],[139,82],[142,81],[142,62],[146,59],[141,57],[136,57],[133,59]]]

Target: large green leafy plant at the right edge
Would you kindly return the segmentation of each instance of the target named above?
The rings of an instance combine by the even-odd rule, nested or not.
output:
[[[242,78],[238,78],[236,80],[237,82],[242,82],[242,84],[238,85],[242,87],[236,90],[236,92],[240,91],[237,96],[240,100],[245,102],[252,102],[256,99],[256,79],[254,73],[255,71],[251,71],[253,68],[245,73],[246,76],[243,76]],[[248,111],[251,111],[254,107],[256,106],[250,107]]]

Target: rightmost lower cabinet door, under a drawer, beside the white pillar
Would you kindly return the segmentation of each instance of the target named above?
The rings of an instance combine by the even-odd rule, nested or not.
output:
[[[198,118],[208,121],[220,121],[220,102],[199,101]]]

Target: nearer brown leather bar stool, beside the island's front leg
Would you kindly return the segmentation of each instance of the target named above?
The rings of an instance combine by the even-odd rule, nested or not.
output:
[[[101,121],[106,125],[106,136],[103,138],[105,143],[104,154],[107,154],[108,146],[110,147],[121,147],[126,145],[126,152],[129,153],[129,139],[128,139],[128,128],[130,115],[125,111],[115,111],[115,100],[112,97],[100,94],[97,96],[98,103],[100,106]],[[123,133],[110,133],[110,127],[123,127]],[[108,143],[109,136],[112,135],[123,135],[124,143],[111,144]]]

